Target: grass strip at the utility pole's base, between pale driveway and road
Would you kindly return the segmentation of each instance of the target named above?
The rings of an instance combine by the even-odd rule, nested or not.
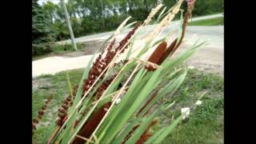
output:
[[[77,45],[78,51],[83,50],[86,46],[86,44],[82,43],[82,42],[76,43],[76,45]],[[64,44],[64,45],[55,44],[50,53],[32,56],[32,61],[49,57],[51,54],[64,54],[64,53],[70,52],[70,51],[74,51],[72,44]]]

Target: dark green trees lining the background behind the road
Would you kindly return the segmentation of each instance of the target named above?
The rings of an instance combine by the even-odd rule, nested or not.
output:
[[[78,38],[87,34],[114,30],[128,16],[132,16],[130,21],[142,21],[158,2],[162,2],[168,10],[176,0],[68,0],[66,8],[70,15],[74,37]],[[193,16],[222,12],[223,5],[224,0],[197,0]],[[36,14],[37,20],[33,20],[36,30],[39,27],[40,30],[44,30],[43,34],[48,35],[52,29],[58,41],[70,38],[60,3],[45,2],[41,7],[38,5],[36,7],[36,10],[40,10],[40,14],[44,15],[38,20],[37,17],[42,16]],[[181,8],[185,10],[186,5],[182,5]]]

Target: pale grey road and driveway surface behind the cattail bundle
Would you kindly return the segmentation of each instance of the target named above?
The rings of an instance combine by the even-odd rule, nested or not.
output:
[[[216,16],[208,16],[208,18],[215,18]],[[177,24],[177,22],[176,22]],[[167,26],[165,30],[162,31],[160,37],[165,35],[168,30],[173,28],[175,25]],[[151,26],[148,26],[147,30],[152,30]],[[83,38],[78,38],[79,42],[94,41],[108,38],[112,32],[95,34],[93,36],[86,36]],[[124,34],[121,34],[118,38],[123,38]],[[189,48],[196,40],[210,39],[208,46],[199,50],[197,54],[194,54],[192,58],[188,61],[188,64],[197,67],[199,70],[205,70],[208,72],[214,72],[219,75],[223,75],[223,62],[224,62],[224,28],[223,26],[188,26],[186,30],[186,36],[184,40],[186,41],[178,49],[175,54],[180,54],[182,51]],[[84,55],[75,58],[62,58],[62,57],[50,57],[43,58],[32,62],[32,76],[37,77],[41,74],[56,74],[62,70],[74,70],[78,68],[83,68],[86,66],[87,62],[91,58],[91,55]]]

